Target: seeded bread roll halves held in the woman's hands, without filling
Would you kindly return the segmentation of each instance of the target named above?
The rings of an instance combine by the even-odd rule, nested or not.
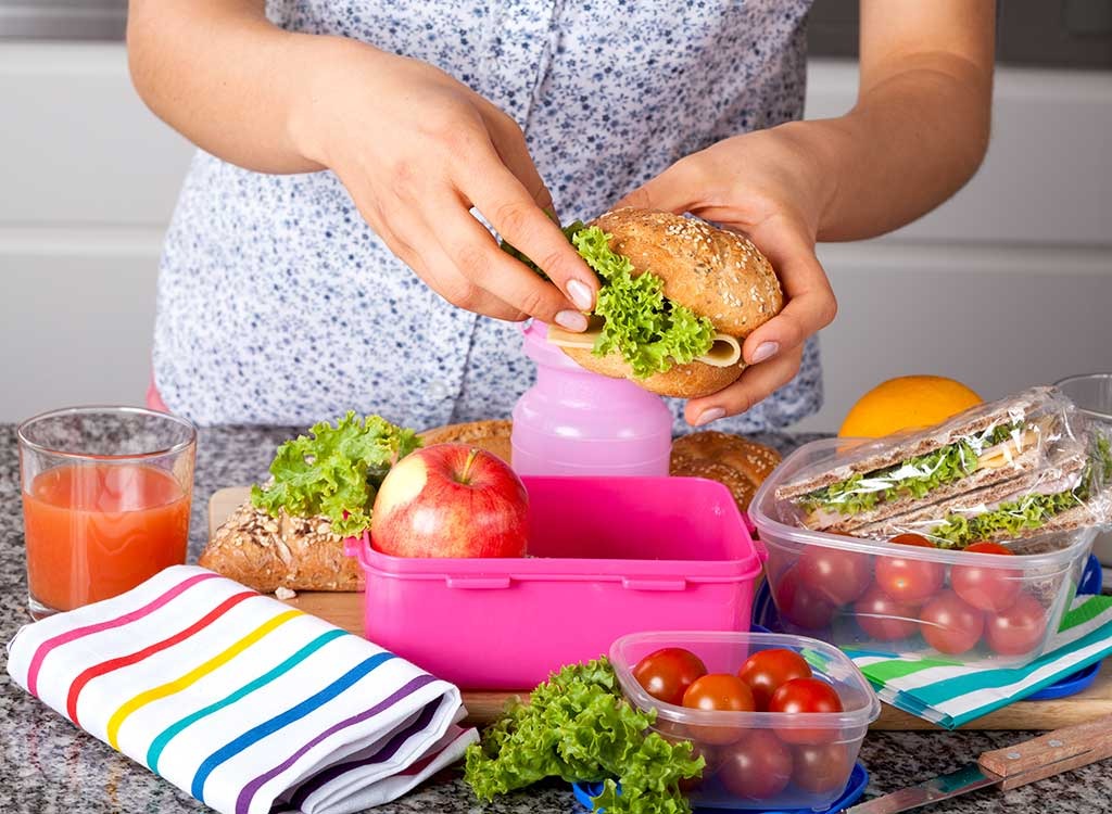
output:
[[[669,300],[706,317],[715,330],[744,339],[784,306],[768,260],[737,232],[672,212],[617,209],[593,224],[610,235],[610,248],[629,258],[636,274],[652,271]],[[595,356],[587,348],[563,348],[582,367],[612,378],[628,378],[662,396],[696,398],[727,387],[744,363],[715,367],[703,361],[676,365],[644,379],[617,353]]]

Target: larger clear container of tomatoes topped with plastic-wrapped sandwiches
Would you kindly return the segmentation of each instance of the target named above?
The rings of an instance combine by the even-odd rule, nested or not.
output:
[[[995,666],[1037,657],[1112,517],[1110,446],[1108,427],[1041,387],[922,431],[800,447],[749,507],[780,618],[871,653]],[[964,550],[982,540],[1011,556]]]

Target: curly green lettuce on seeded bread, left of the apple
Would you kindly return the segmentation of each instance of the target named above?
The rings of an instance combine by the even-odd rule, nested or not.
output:
[[[411,429],[379,416],[360,419],[354,411],[335,427],[314,425],[309,434],[278,447],[270,464],[274,480],[254,486],[251,503],[271,516],[280,509],[295,517],[324,515],[335,534],[361,534],[370,527],[370,508],[386,474],[420,439]]]

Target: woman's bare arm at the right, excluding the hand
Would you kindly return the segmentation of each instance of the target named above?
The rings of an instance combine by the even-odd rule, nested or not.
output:
[[[882,235],[929,212],[989,147],[992,0],[862,0],[857,103],[791,126],[827,181],[820,240]]]

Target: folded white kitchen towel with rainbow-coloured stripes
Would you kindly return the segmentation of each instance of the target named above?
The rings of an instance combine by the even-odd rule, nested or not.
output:
[[[28,625],[8,655],[24,689],[226,814],[378,805],[478,737],[451,684],[192,566]]]

